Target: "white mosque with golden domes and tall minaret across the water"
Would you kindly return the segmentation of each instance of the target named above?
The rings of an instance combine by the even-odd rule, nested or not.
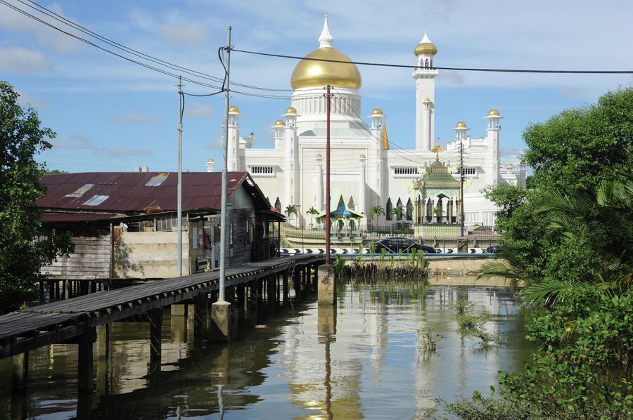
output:
[[[356,65],[309,58],[350,62],[350,58],[333,47],[333,37],[326,15],[319,48],[301,60],[293,71],[290,107],[283,119],[273,124],[272,149],[253,146],[253,135],[240,136],[240,111],[229,109],[229,171],[248,171],[269,200],[283,211],[295,205],[299,215],[290,223],[307,226],[314,207],[326,209],[325,147],[326,98],[324,86],[331,85],[331,209],[343,199],[347,210],[364,216],[359,225],[390,223],[456,223],[459,214],[459,149],[463,148],[465,224],[492,225],[494,206],[483,197],[481,190],[494,183],[525,184],[525,164],[518,168],[501,162],[499,132],[502,118],[499,111],[489,110],[481,129],[485,135],[471,137],[465,122],[454,128],[455,138],[435,148],[435,78],[433,68],[437,48],[428,35],[415,47],[418,67],[413,72],[416,84],[416,147],[402,150],[390,147],[381,109],[361,116],[361,74]],[[437,162],[436,162],[437,161]],[[212,160],[207,164],[212,171]],[[426,191],[421,181],[432,173],[453,183],[430,185]],[[435,180],[437,181],[437,180]],[[437,182],[436,182],[437,183]],[[459,183],[457,183],[459,185]],[[388,217],[389,210],[402,206],[402,220]],[[386,216],[371,218],[371,208],[382,206]],[[357,225],[358,226],[358,225]]]

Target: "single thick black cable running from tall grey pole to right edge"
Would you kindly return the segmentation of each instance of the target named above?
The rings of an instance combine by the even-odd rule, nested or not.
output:
[[[377,66],[377,67],[397,67],[397,68],[404,68],[404,69],[426,68],[428,70],[458,70],[461,72],[500,72],[500,73],[633,74],[633,70],[526,70],[526,69],[492,69],[492,68],[477,68],[477,67],[420,67],[418,65],[406,65],[406,64],[370,63],[366,61],[343,61],[343,60],[329,60],[327,58],[299,57],[297,55],[262,53],[259,51],[238,50],[236,48],[231,49],[231,51],[236,51],[237,53],[265,55],[267,57],[290,58],[293,60],[326,61],[328,63],[371,65],[371,66]]]

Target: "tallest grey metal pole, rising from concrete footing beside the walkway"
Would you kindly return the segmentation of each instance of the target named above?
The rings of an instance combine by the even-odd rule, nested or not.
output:
[[[229,151],[229,74],[231,73],[231,27],[226,31],[226,84],[224,90],[224,140],[222,141],[222,208],[220,213],[220,276],[219,302],[224,301],[224,280],[226,277],[226,188],[229,178],[227,154]]]

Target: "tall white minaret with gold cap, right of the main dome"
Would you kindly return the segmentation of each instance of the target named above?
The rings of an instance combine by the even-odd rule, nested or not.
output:
[[[418,56],[418,68],[414,70],[416,80],[416,150],[430,150],[435,136],[435,77],[437,70],[433,68],[433,56],[437,48],[424,37],[414,50]]]

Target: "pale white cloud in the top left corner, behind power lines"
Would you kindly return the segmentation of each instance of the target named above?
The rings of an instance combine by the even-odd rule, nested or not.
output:
[[[28,11],[32,15],[36,15],[41,20],[51,22],[51,24],[54,24],[55,26],[60,27],[67,32],[79,34],[79,32],[71,29],[68,26],[65,26],[63,23],[37,13],[36,11],[33,11],[32,9],[24,6],[23,4],[18,4],[16,6],[25,9],[25,11]],[[49,10],[57,13],[60,16],[63,16],[64,18],[72,20],[68,18],[68,16],[64,15],[61,7],[56,3],[51,4],[51,6],[46,6],[46,8],[49,8]],[[33,20],[26,15],[18,13],[13,9],[4,6],[2,8],[2,13],[0,13],[0,28],[6,29],[11,32],[32,34],[34,37],[37,38],[41,46],[51,47],[57,53],[73,53],[82,48],[82,43],[80,41],[77,41],[77,39],[73,39],[66,34],[58,32],[56,29],[48,27],[41,22],[37,22],[36,20]]]

